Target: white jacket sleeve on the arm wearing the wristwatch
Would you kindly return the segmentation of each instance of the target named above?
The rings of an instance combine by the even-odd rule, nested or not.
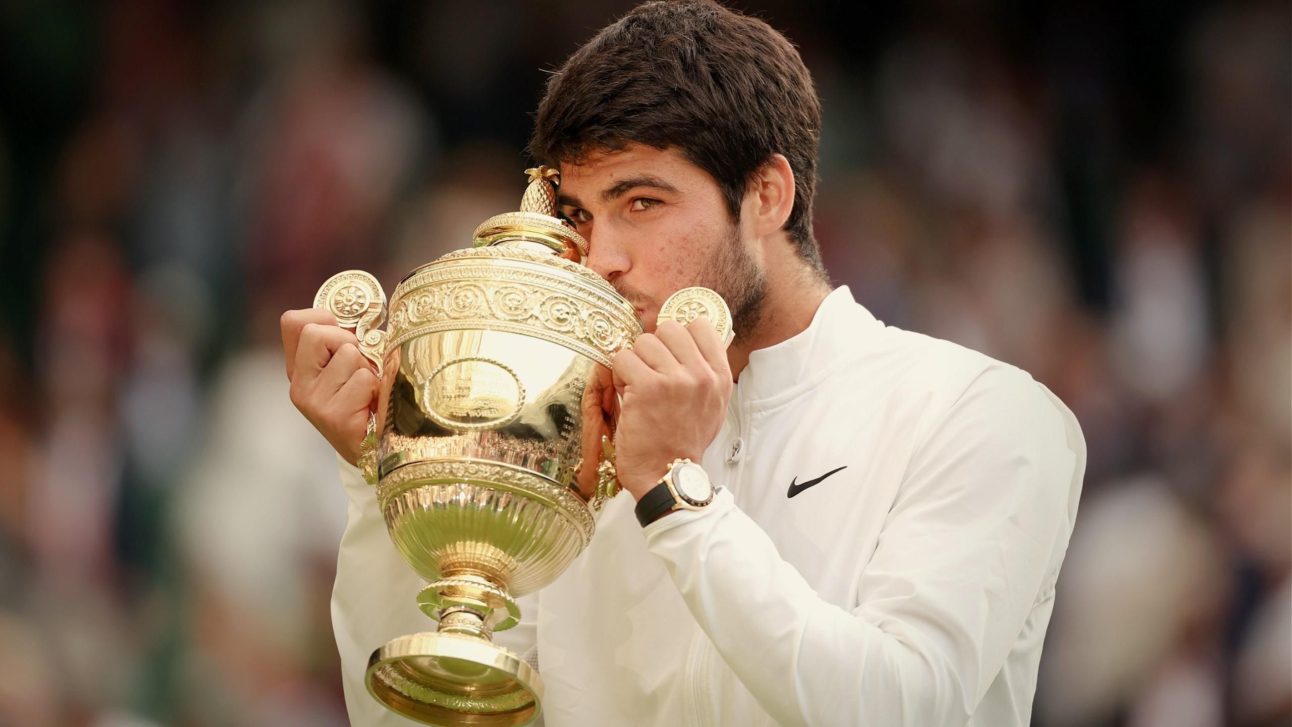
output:
[[[652,523],[647,547],[779,723],[963,726],[1053,587],[1084,462],[1057,398],[990,369],[917,445],[857,608],[818,598],[729,492]]]

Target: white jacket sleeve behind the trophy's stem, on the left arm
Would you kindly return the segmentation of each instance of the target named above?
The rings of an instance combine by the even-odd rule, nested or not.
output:
[[[345,708],[354,727],[417,724],[381,706],[363,683],[368,656],[404,634],[434,631],[435,622],[417,608],[417,591],[426,582],[404,563],[377,510],[377,494],[359,470],[340,457],[341,483],[350,498],[345,534],[336,559],[332,586],[332,630],[341,653]],[[494,634],[494,643],[537,664],[537,594],[517,599],[521,622]],[[535,722],[541,727],[543,718]]]

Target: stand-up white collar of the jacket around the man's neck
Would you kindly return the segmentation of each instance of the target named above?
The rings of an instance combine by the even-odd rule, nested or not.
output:
[[[736,392],[744,402],[767,409],[817,385],[837,366],[857,357],[884,323],[853,299],[848,286],[822,300],[801,332],[749,353]]]

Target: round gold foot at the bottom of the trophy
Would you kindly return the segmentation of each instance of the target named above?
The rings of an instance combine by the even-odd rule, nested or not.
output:
[[[424,631],[372,652],[364,679],[377,701],[422,724],[528,724],[543,679],[521,657],[479,636]]]

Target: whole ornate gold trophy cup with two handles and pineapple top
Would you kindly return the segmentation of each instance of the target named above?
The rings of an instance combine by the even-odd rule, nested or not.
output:
[[[333,276],[314,300],[377,366],[359,467],[395,548],[429,583],[419,607],[439,622],[377,648],[366,682],[426,724],[537,718],[539,674],[491,635],[519,620],[516,596],[583,551],[593,511],[619,489],[610,367],[642,323],[603,278],[562,256],[587,257],[588,244],[557,219],[557,172],[528,175],[519,212],[481,224],[475,247],[415,269],[389,307],[360,270]],[[678,291],[664,309],[682,322],[705,316],[730,340],[713,291]]]

